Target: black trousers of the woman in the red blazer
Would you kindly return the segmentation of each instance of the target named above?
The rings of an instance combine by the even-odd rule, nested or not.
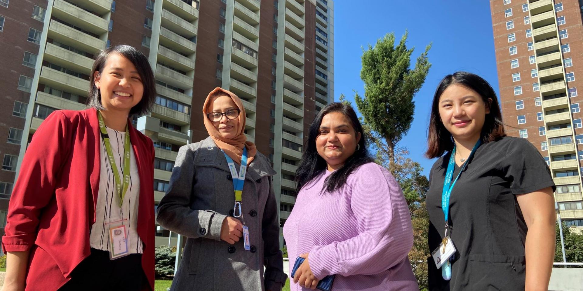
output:
[[[92,248],[89,257],[71,272],[71,280],[59,291],[139,291],[142,284],[146,284],[142,254],[130,254],[112,261],[108,251]]]

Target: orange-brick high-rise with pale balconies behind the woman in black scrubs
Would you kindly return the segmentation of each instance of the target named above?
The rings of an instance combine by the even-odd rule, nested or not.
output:
[[[583,230],[583,94],[577,93],[583,90],[582,5],[581,0],[490,0],[506,129],[538,148],[557,185],[561,219],[578,231]]]

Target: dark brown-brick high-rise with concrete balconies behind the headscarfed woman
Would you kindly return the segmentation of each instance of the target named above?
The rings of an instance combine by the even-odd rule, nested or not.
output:
[[[243,100],[245,134],[278,171],[285,221],[307,127],[333,101],[332,0],[0,0],[0,43],[0,232],[27,141],[52,111],[85,108],[94,55],[110,45],[140,49],[156,76],[152,113],[134,118],[154,139],[156,203],[178,148],[208,136],[202,104],[220,86]]]

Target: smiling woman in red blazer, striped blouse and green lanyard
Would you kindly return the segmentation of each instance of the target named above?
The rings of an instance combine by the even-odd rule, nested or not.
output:
[[[128,45],[93,72],[91,108],[53,112],[24,155],[2,291],[154,289],[154,148],[129,119],[152,107],[154,76]]]

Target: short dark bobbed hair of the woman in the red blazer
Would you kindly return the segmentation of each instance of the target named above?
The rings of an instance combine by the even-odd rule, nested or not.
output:
[[[152,72],[152,67],[147,60],[147,57],[142,54],[141,51],[135,49],[130,45],[116,45],[115,47],[110,47],[102,49],[95,58],[93,62],[93,70],[91,71],[90,82],[89,82],[89,97],[87,98],[87,105],[98,110],[103,110],[103,105],[101,105],[101,93],[97,86],[95,86],[94,75],[95,72],[103,72],[103,68],[106,66],[107,58],[112,54],[117,53],[125,58],[129,59],[130,62],[134,64],[138,70],[138,74],[142,79],[142,84],[144,86],[144,93],[142,100],[136,104],[129,111],[129,115],[143,115],[151,111],[154,101],[156,101],[156,82],[154,80],[154,73]]]

